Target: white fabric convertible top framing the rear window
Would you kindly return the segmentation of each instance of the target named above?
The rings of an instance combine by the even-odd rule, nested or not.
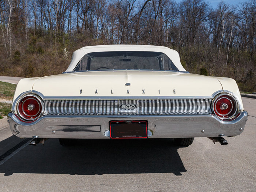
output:
[[[78,62],[84,57],[84,55],[92,52],[107,52],[107,51],[153,51],[162,52],[166,54],[178,68],[179,71],[186,71],[185,68],[180,63],[179,53],[173,49],[163,46],[153,46],[153,45],[97,45],[97,46],[87,46],[76,50],[73,53],[71,63],[68,66],[68,71],[73,71]]]

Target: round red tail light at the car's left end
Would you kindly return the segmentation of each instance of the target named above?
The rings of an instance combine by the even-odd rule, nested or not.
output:
[[[43,112],[42,100],[36,95],[26,95],[19,100],[17,111],[24,120],[36,120]]]

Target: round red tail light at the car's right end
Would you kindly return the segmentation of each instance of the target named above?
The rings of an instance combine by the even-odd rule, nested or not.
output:
[[[236,99],[229,94],[220,94],[213,100],[213,112],[220,119],[230,119],[238,110]]]

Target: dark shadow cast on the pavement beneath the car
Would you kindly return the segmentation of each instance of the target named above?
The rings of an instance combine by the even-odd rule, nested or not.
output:
[[[44,146],[23,148],[0,166],[0,172],[5,176],[13,173],[182,175],[186,169],[177,150],[173,139],[83,140],[73,147],[63,147],[57,139],[49,139]]]

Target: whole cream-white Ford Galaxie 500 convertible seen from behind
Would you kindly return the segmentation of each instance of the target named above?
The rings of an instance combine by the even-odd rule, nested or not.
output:
[[[20,80],[8,114],[12,133],[31,144],[59,138],[194,137],[228,144],[247,121],[236,82],[190,74],[178,52],[147,45],[100,45],[76,50],[60,75]]]

